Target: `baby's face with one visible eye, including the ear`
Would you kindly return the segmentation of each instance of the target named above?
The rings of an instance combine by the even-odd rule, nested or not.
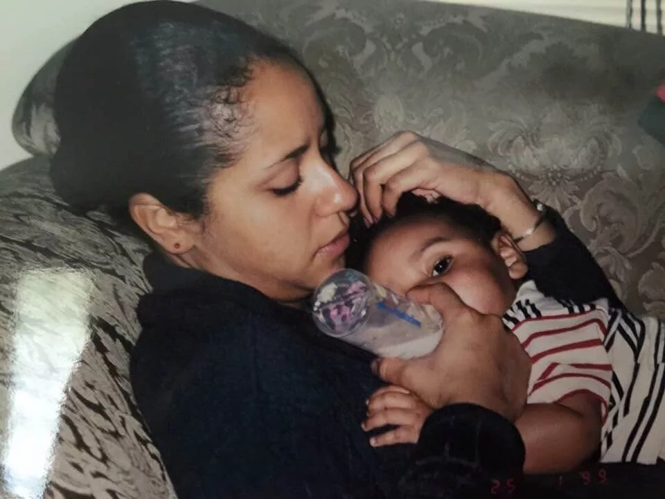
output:
[[[515,256],[518,265],[513,265]],[[513,279],[524,276],[526,264],[505,235],[496,236],[490,248],[433,218],[391,227],[379,236],[366,272],[400,295],[416,286],[443,282],[468,306],[503,315],[515,299]]]

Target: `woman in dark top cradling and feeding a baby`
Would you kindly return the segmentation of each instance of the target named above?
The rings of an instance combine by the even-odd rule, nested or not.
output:
[[[371,222],[410,190],[477,202],[526,235],[545,292],[614,297],[578,240],[558,218],[542,222],[513,180],[400,134],[354,161],[354,188],[332,164],[325,105],[301,62],[184,3],[96,21],[64,62],[55,108],[56,189],[81,209],[105,206],[155,249],[131,375],[181,498],[513,491],[524,456],[509,421],[528,362],[497,317],[448,290],[419,291],[441,309],[445,340],[429,358],[377,369],[442,409],[415,450],[374,449],[361,428],[382,384],[371,356],[323,338],[304,310],[344,266],[355,207]]]

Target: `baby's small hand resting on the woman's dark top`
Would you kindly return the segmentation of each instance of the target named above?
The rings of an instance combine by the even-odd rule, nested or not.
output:
[[[373,447],[415,444],[420,428],[431,412],[432,408],[409,390],[390,385],[378,389],[367,401],[367,419],[362,423],[362,429],[369,431],[386,425],[398,427],[369,439]]]

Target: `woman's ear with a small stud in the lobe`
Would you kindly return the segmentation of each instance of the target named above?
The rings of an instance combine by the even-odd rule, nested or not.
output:
[[[194,246],[191,220],[164,206],[150,194],[134,194],[130,199],[132,220],[164,251],[184,254]]]

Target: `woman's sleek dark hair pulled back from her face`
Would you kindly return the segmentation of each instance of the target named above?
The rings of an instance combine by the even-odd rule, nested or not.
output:
[[[260,61],[311,78],[285,44],[220,12],[156,0],[102,17],[73,44],[57,78],[56,191],[75,208],[104,205],[123,222],[136,193],[201,216],[207,182],[242,153],[240,89]]]

